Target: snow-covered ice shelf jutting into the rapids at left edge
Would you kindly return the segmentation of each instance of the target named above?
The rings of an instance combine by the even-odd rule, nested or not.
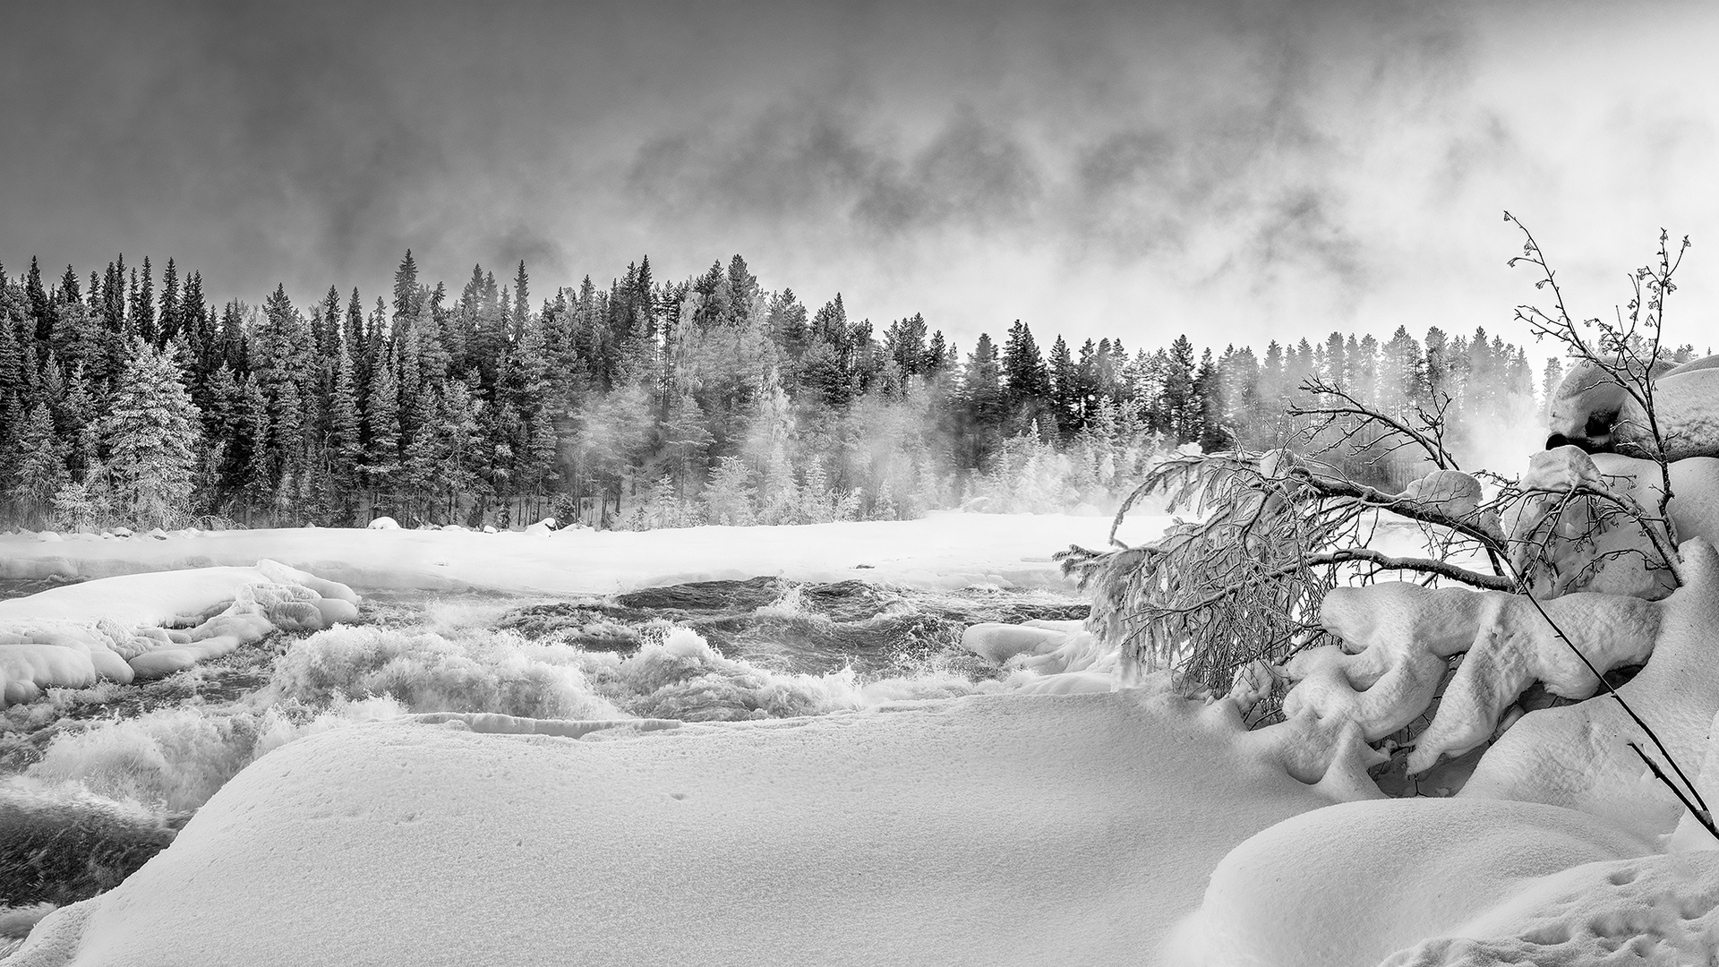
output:
[[[275,630],[356,616],[351,588],[275,561],[101,578],[0,601],[0,707],[52,687],[160,678]]]

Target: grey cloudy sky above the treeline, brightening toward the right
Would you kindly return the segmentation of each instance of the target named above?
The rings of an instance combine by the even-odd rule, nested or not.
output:
[[[741,253],[957,346],[1509,341],[1691,236],[1719,342],[1719,9],[1428,3],[84,3],[0,29],[0,263],[174,256],[366,301],[411,248],[533,296]],[[158,272],[158,268],[156,268]],[[1539,353],[1549,353],[1540,348]]]

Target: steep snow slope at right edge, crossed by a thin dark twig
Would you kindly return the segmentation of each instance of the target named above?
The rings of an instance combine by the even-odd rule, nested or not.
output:
[[[1681,549],[1685,585],[1659,604],[1652,659],[1618,693],[1686,767],[1707,755],[1719,712],[1719,554],[1705,540]],[[1480,759],[1459,795],[1578,809],[1642,836],[1671,833],[1681,804],[1628,747],[1659,757],[1652,742],[1609,697],[1523,716]]]

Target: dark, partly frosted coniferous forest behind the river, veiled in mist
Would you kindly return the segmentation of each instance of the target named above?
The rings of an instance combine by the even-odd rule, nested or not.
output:
[[[363,525],[605,528],[1071,509],[1164,453],[1305,439],[1324,379],[1384,411],[1449,399],[1451,434],[1533,406],[1525,351],[1430,329],[1195,348],[1042,346],[1016,320],[957,348],[811,310],[746,260],[658,280],[648,258],[536,298],[526,265],[457,291],[411,251],[368,299],[213,305],[174,260],[50,282],[0,267],[0,523],[28,528]],[[533,301],[536,298],[536,301]],[[1539,377],[1539,379],[1537,379]],[[1298,437],[1298,432],[1303,432]],[[1408,454],[1336,453],[1380,484]],[[1365,449],[1365,447],[1363,447]]]

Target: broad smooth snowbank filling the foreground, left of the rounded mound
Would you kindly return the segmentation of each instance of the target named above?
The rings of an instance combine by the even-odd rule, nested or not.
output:
[[[376,723],[260,759],[15,964],[1140,964],[1231,847],[1325,802],[1133,690]]]

